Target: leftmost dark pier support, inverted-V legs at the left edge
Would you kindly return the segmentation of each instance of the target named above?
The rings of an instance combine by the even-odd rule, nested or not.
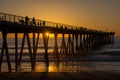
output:
[[[9,56],[8,46],[7,46],[7,33],[6,32],[2,32],[2,38],[3,38],[3,43],[2,43],[2,50],[1,50],[1,56],[0,56],[0,71],[1,71],[2,61],[3,61],[4,51],[5,51],[8,70],[9,72],[12,72],[10,56]]]

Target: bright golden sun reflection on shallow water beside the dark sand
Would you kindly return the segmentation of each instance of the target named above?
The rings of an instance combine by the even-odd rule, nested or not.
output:
[[[91,70],[88,62],[64,62],[58,66],[54,62],[50,62],[49,65],[46,65],[44,62],[39,62],[35,67],[35,72],[81,72],[88,70]]]

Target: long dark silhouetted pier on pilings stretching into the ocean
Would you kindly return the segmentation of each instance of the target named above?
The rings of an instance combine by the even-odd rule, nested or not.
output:
[[[28,20],[27,20],[28,19]],[[38,20],[33,18],[27,18],[8,13],[0,13],[0,32],[2,34],[2,48],[0,52],[0,71],[3,63],[3,57],[6,56],[6,62],[8,65],[8,71],[12,72],[10,53],[8,48],[8,34],[14,34],[14,50],[15,50],[15,71],[18,72],[18,68],[22,63],[22,56],[24,54],[25,40],[27,41],[28,54],[30,57],[31,70],[34,71],[36,65],[36,54],[38,50],[38,41],[40,40],[40,34],[44,42],[44,58],[47,65],[49,65],[49,52],[48,43],[50,34],[54,34],[54,48],[53,56],[57,62],[60,61],[61,56],[74,56],[79,54],[87,54],[89,50],[96,47],[114,43],[115,32],[105,32],[100,30],[92,30],[79,26],[72,26],[66,24],[60,24],[50,21]],[[48,33],[49,32],[49,33]],[[20,51],[18,51],[18,39],[19,34],[22,36],[22,44]],[[30,36],[29,34],[32,34]],[[61,47],[58,49],[58,34],[61,34]],[[67,35],[67,41],[65,40]],[[32,37],[32,44],[30,38]]]

